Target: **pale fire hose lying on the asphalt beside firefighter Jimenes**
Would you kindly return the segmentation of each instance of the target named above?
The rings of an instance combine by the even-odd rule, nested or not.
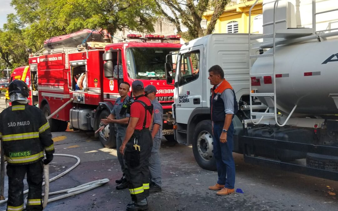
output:
[[[63,173],[61,173],[59,175],[56,175],[55,177],[53,177],[51,179],[49,179],[48,165],[44,165],[45,182],[43,182],[42,185],[45,185],[45,194],[43,194],[44,195],[43,208],[46,207],[47,202],[54,202],[56,200],[64,199],[64,198],[72,196],[72,195],[83,193],[83,192],[86,192],[88,190],[94,189],[96,187],[99,187],[99,186],[101,186],[101,185],[109,182],[109,179],[105,178],[105,179],[101,179],[101,180],[95,180],[95,181],[92,181],[92,182],[88,182],[88,183],[85,183],[85,184],[82,184],[82,185],[79,185],[79,186],[76,186],[76,187],[73,187],[73,188],[59,190],[59,191],[55,191],[55,192],[50,192],[49,193],[49,183],[50,182],[52,182],[52,181],[54,181],[54,180],[56,180],[56,179],[64,176],[65,174],[67,174],[68,172],[70,172],[71,170],[73,170],[80,163],[80,158],[77,157],[77,156],[75,156],[75,155],[54,154],[54,156],[64,156],[64,157],[75,158],[75,159],[77,159],[77,162],[73,166],[71,166],[70,168],[68,168],[66,171],[64,171]],[[48,169],[48,170],[46,170],[46,169]],[[25,190],[23,193],[24,194],[28,193],[28,190]],[[51,199],[48,199],[49,195],[54,195],[54,194],[59,194],[59,193],[66,193],[66,194],[59,195],[59,196],[53,197]],[[0,205],[3,204],[3,203],[5,203],[5,202],[7,202],[7,200],[8,200],[8,198],[6,198],[4,200],[1,200],[0,201]],[[24,201],[27,201],[27,200],[24,200]],[[24,209],[26,209],[26,206],[24,206]]]

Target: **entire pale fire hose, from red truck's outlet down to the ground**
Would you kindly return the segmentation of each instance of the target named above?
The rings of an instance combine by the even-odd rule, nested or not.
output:
[[[56,111],[54,111],[51,115],[49,115],[47,117],[47,120],[49,120],[52,116],[54,116],[57,112],[59,112],[61,109],[63,109],[64,107],[66,107],[70,102],[74,101],[73,98],[71,98],[69,101],[67,101],[64,105],[62,105],[60,108],[58,108]],[[4,168],[4,155],[3,155],[3,150],[2,150],[2,141],[1,141],[1,162],[0,162],[0,205],[7,202],[8,198],[5,199],[4,197],[4,172],[5,172],[5,168]],[[96,187],[99,187],[107,182],[109,182],[109,179],[105,178],[105,179],[101,179],[101,180],[95,180],[92,182],[88,182],[82,185],[79,185],[77,187],[73,187],[73,188],[69,188],[69,189],[65,189],[65,190],[59,190],[59,191],[55,191],[55,192],[51,192],[49,193],[49,183],[64,176],[65,174],[67,174],[68,172],[70,172],[71,170],[73,170],[77,165],[79,165],[80,163],[80,158],[74,155],[67,155],[67,154],[54,154],[54,156],[64,156],[64,157],[71,157],[71,158],[75,158],[77,159],[77,162],[70,168],[68,168],[65,172],[49,179],[49,165],[44,165],[44,175],[45,175],[45,182],[42,183],[42,185],[45,185],[45,194],[43,194],[44,196],[44,200],[43,200],[43,208],[45,208],[47,206],[48,202],[53,202],[56,200],[60,200],[60,199],[64,199],[66,197],[72,196],[72,195],[76,195],[79,193],[83,193],[86,192],[88,190],[94,189]],[[28,190],[25,190],[23,192],[28,193]],[[60,195],[60,196],[56,196],[53,197],[51,199],[48,199],[49,195],[54,195],[54,194],[59,194],[59,193],[66,193],[64,195]],[[25,200],[27,201],[27,200]],[[24,209],[26,209],[26,207],[24,206]]]

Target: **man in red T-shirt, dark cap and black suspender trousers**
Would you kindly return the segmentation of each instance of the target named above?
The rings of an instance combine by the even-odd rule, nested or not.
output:
[[[139,80],[132,82],[134,102],[130,106],[130,119],[126,135],[120,147],[127,168],[127,180],[132,203],[127,210],[146,210],[149,196],[149,157],[152,136],[149,126],[152,122],[152,104],[144,96],[144,86]]]

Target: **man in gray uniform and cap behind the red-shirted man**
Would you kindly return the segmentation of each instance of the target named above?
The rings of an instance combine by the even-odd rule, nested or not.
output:
[[[150,172],[150,189],[149,193],[162,191],[162,170],[160,160],[160,147],[162,139],[162,116],[163,108],[160,102],[156,99],[156,87],[148,85],[144,88],[145,95],[151,100],[154,106],[153,122],[151,127],[151,135],[153,145],[151,149],[151,156],[149,158],[149,172]]]

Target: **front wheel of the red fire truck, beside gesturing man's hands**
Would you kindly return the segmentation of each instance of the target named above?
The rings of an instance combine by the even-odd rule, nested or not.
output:
[[[109,112],[107,110],[103,110],[99,115],[99,120],[109,116]],[[100,122],[99,128],[103,124]],[[107,125],[101,132],[99,132],[99,140],[105,148],[116,148],[116,132],[113,124]]]

